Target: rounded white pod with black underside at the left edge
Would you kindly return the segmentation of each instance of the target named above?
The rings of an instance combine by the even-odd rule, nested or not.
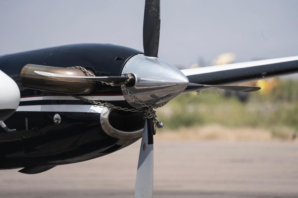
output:
[[[20,89],[8,75],[0,70],[0,123],[13,114],[20,103]]]

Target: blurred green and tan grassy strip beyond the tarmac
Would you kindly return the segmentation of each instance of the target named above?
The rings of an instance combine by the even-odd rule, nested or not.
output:
[[[250,93],[246,102],[215,90],[179,95],[157,110],[165,128],[156,138],[292,141],[298,134],[297,86],[298,81],[280,81],[270,93]]]

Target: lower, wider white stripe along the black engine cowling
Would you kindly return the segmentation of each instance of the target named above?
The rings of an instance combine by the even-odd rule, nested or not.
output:
[[[28,105],[19,106],[16,111],[101,113],[103,108],[97,105]]]

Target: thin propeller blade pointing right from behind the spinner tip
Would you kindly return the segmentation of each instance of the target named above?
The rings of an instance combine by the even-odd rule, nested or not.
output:
[[[217,88],[217,89],[224,89],[229,91],[240,91],[240,92],[254,92],[258,91],[260,87],[253,87],[253,86],[238,86],[238,85],[206,85],[206,84],[195,84],[189,83],[187,89],[198,89],[198,88]],[[188,91],[188,90],[187,90]]]

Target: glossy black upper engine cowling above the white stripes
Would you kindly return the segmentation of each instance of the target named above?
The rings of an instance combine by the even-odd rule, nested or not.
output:
[[[91,69],[97,76],[120,76],[126,60],[142,52],[111,44],[72,44],[44,49],[31,50],[0,56],[0,69],[20,84],[20,71],[26,64],[53,67],[81,66]],[[118,59],[117,59],[118,58]],[[94,93],[119,93],[120,88],[108,85],[100,86]],[[35,90],[21,90],[25,95],[37,95]]]

